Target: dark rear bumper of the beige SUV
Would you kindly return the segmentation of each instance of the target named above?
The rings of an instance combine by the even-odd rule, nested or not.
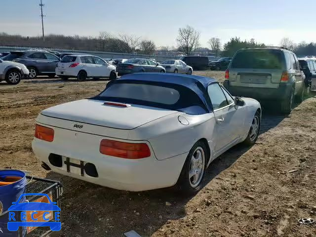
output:
[[[233,96],[250,97],[257,100],[275,100],[287,98],[293,88],[292,84],[280,83],[278,88],[231,86],[229,80],[225,80],[224,87]]]

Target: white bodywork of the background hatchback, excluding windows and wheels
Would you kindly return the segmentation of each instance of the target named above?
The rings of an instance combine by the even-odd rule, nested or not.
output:
[[[87,73],[88,77],[110,77],[112,71],[116,71],[116,67],[108,64],[103,59],[93,56],[93,55],[66,55],[65,57],[77,57],[76,61],[70,63],[59,62],[55,69],[55,73],[57,76],[70,76],[77,77],[80,70],[84,70]],[[81,57],[95,57],[104,61],[103,64],[88,64],[82,63]],[[73,63],[79,63],[76,67],[70,67]]]

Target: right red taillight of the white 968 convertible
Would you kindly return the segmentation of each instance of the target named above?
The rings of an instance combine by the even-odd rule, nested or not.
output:
[[[127,143],[103,139],[100,153],[125,159],[141,159],[150,157],[150,149],[146,143]]]

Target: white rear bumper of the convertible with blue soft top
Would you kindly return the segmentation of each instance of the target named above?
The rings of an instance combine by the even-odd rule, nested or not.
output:
[[[123,158],[114,158],[102,155],[99,151],[95,154],[82,154],[70,148],[62,148],[40,139],[34,138],[32,148],[40,161],[45,162],[52,171],[67,175],[73,178],[81,179],[105,187],[126,190],[126,191],[145,191],[170,187],[176,184],[187,153],[164,160],[158,160],[155,157],[143,158],[138,160],[129,160]],[[78,172],[72,172],[75,167],[70,167],[67,172],[67,165],[56,167],[49,162],[49,155],[56,154],[78,159],[84,162],[93,163],[98,172],[98,177],[91,177],[84,173],[83,176]]]

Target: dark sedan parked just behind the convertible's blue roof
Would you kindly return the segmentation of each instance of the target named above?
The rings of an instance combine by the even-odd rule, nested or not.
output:
[[[118,76],[131,73],[165,73],[164,67],[159,66],[158,63],[145,58],[134,58],[119,63],[117,67]]]

